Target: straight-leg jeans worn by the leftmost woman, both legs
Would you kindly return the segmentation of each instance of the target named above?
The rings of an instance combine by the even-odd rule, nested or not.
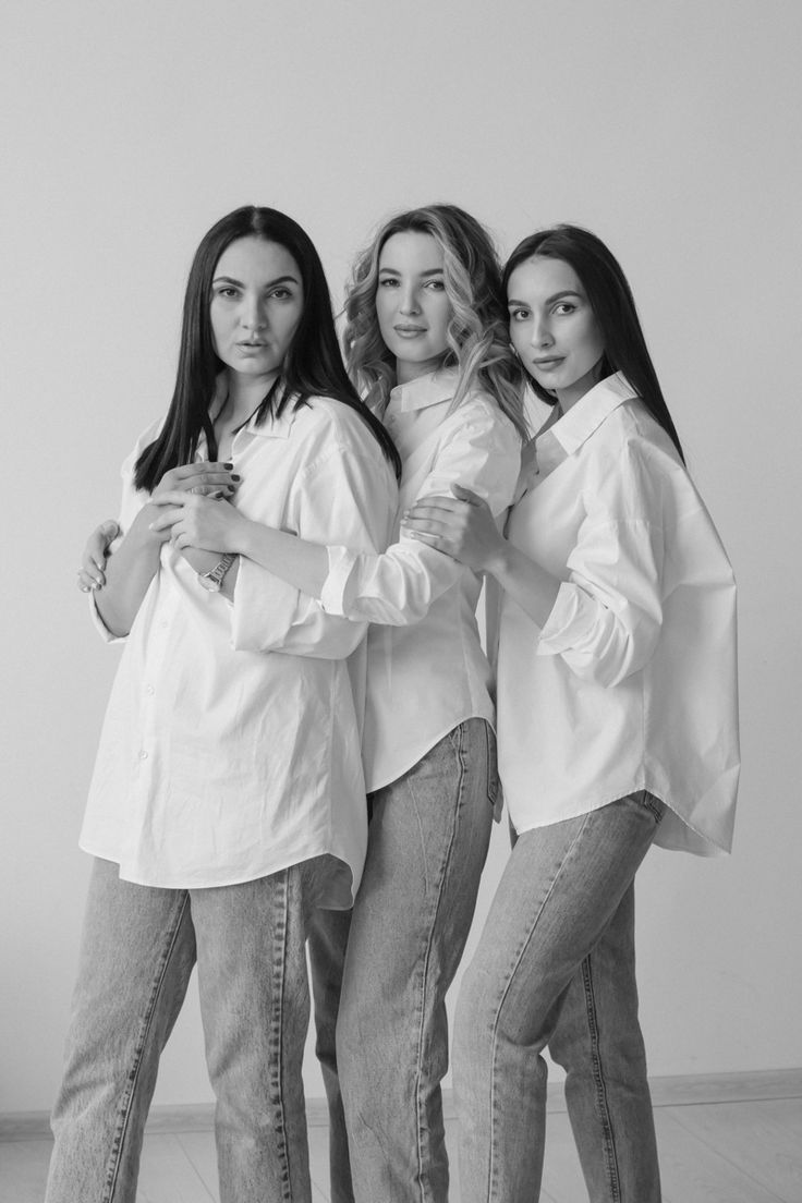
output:
[[[133,1203],[159,1057],[196,960],[221,1203],[309,1203],[304,941],[322,859],[198,890],[135,885],[95,861],[47,1203]]]

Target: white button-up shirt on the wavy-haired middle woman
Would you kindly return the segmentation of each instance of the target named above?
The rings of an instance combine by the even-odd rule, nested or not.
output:
[[[457,373],[392,390],[385,426],[403,461],[400,514],[428,493],[464,485],[503,515],[521,467],[515,427],[486,393],[456,409]],[[492,672],[476,627],[481,577],[411,539],[396,523],[381,556],[329,547],[328,614],[388,626],[368,634],[363,758],[368,789],[396,781],[458,723],[494,721]]]

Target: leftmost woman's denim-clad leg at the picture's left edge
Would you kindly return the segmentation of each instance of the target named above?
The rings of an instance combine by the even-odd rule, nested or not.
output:
[[[194,964],[188,895],[121,882],[117,865],[96,860],[53,1110],[48,1203],[133,1203],[159,1057]]]

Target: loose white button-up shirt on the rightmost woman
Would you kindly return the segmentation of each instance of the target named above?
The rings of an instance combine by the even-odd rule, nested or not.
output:
[[[499,766],[518,831],[648,789],[657,842],[729,851],[738,782],[732,569],[623,375],[525,449],[512,544],[559,577],[540,630],[501,602]]]

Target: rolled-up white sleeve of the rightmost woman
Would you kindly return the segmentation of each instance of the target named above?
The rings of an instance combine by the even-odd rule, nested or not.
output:
[[[660,638],[663,559],[658,525],[586,522],[537,654],[562,656],[577,676],[605,687],[642,669]]]

